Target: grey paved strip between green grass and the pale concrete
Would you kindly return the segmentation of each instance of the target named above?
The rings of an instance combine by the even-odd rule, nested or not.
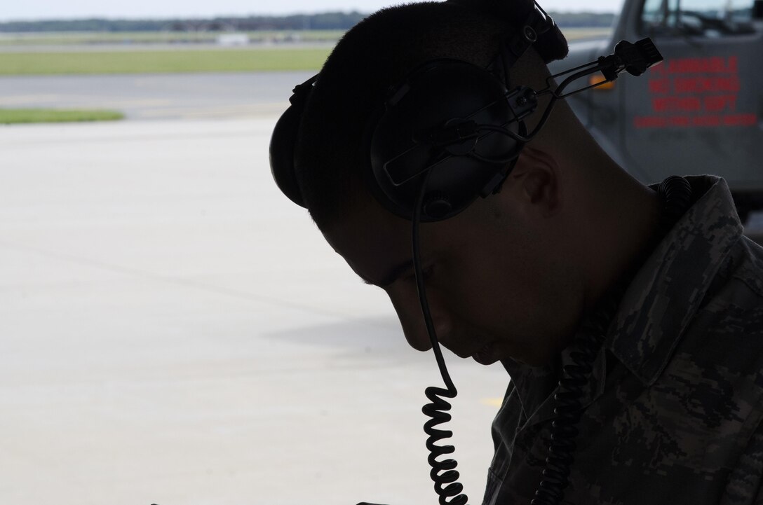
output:
[[[313,72],[0,77],[0,107],[114,109],[130,120],[271,117]]]

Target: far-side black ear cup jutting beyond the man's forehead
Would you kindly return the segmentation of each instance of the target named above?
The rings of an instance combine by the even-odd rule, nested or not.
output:
[[[289,200],[304,207],[304,198],[297,184],[294,166],[294,152],[302,117],[302,105],[301,102],[291,105],[278,119],[278,123],[275,123],[273,134],[270,137],[270,171],[278,189]]]

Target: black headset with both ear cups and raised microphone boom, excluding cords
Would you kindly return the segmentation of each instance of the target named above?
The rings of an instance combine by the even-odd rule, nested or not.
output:
[[[635,44],[621,41],[613,55],[552,75],[542,90],[526,86],[507,89],[511,66],[530,46],[546,63],[567,55],[568,46],[559,27],[532,0],[447,3],[472,5],[513,20],[516,29],[511,30],[512,35],[485,69],[459,59],[423,63],[391,88],[369,118],[363,142],[367,163],[362,177],[381,205],[404,219],[412,219],[425,175],[423,222],[448,219],[477,197],[497,193],[523,145],[546,123],[555,101],[593,87],[563,94],[571,82],[602,72],[604,80],[596,85],[603,85],[623,70],[641,75],[662,61],[649,39]],[[517,24],[516,20],[521,21]],[[553,78],[570,73],[552,89]],[[303,207],[295,173],[295,145],[302,113],[319,78],[320,74],[314,75],[294,88],[291,105],[276,123],[270,143],[275,183]],[[524,120],[536,112],[538,97],[544,94],[550,94],[551,100],[536,128],[528,132]]]

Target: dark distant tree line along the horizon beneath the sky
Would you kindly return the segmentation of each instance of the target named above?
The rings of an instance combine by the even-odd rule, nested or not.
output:
[[[609,27],[615,14],[597,12],[549,12],[560,27]],[[198,19],[77,19],[5,21],[0,33],[31,32],[136,32],[136,31],[258,31],[258,30],[349,30],[367,13],[324,12],[289,16],[248,16]]]

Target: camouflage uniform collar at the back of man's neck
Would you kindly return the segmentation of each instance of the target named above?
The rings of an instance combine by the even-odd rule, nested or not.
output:
[[[696,203],[636,273],[610,325],[605,347],[651,385],[742,236],[729,187],[720,177],[686,177]]]

